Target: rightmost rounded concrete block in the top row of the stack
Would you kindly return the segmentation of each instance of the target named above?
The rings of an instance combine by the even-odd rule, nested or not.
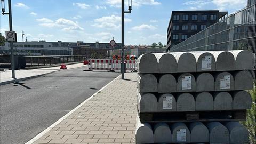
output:
[[[235,58],[235,70],[251,70],[254,68],[254,58],[250,51],[231,51]]]

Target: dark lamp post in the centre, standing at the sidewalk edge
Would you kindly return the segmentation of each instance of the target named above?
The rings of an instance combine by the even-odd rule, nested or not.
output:
[[[131,13],[131,10],[132,10],[132,0],[128,0],[128,10],[129,11],[124,11],[124,0],[121,0],[122,1],[122,54],[121,54],[121,57],[122,57],[122,63],[121,63],[121,73],[122,73],[122,79],[124,79],[124,71],[125,71],[125,63],[124,63],[124,13]]]

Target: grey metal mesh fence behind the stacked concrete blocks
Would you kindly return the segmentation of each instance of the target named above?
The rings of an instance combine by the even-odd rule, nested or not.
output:
[[[169,52],[249,50],[256,53],[256,5],[247,6],[214,25],[200,31],[173,47]],[[254,78],[252,109],[247,111],[247,121],[241,122],[249,130],[250,143],[256,143],[256,70],[250,70]]]

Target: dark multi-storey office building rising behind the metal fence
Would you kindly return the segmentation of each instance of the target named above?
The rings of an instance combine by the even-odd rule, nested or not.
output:
[[[167,30],[167,48],[227,17],[228,12],[219,11],[172,11]]]

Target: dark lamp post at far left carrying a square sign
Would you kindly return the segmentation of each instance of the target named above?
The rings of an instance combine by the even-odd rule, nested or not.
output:
[[[4,0],[1,0],[2,3],[2,14],[8,14],[9,15],[9,28],[10,31],[12,31],[12,3],[11,0],[8,0],[8,10],[9,13],[5,13],[5,4],[4,4]],[[15,79],[15,66],[14,66],[14,53],[13,53],[13,42],[10,41],[10,46],[11,46],[11,67],[12,67],[12,78]]]

